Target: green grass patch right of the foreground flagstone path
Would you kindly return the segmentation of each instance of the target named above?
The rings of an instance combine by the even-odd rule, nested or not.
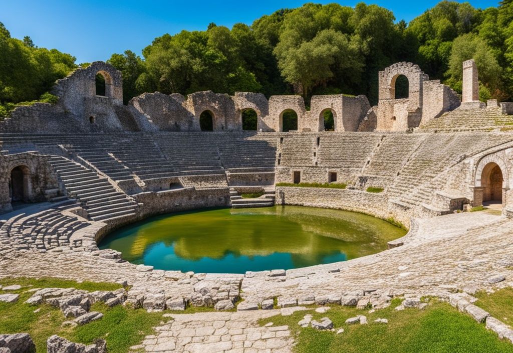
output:
[[[275,316],[261,320],[262,325],[289,325],[297,340],[295,353],[488,353],[513,352],[513,345],[501,341],[497,335],[447,303],[432,300],[424,310],[394,310],[396,300],[389,308],[368,310],[333,306],[326,313],[296,312],[292,316]],[[306,313],[319,320],[327,316],[342,334],[301,328],[298,322]],[[367,325],[347,325],[345,320],[365,315]],[[377,324],[377,318],[388,319],[388,324]]]

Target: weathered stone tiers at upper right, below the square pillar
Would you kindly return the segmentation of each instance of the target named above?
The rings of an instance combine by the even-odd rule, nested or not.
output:
[[[422,130],[481,130],[489,131],[501,127],[511,129],[513,115],[502,113],[501,107],[455,109],[432,119],[420,128]]]

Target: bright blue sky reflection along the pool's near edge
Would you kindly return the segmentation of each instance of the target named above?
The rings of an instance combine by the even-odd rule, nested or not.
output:
[[[194,271],[196,273],[244,273],[246,271],[262,271],[276,268],[290,269],[346,260],[345,254],[339,252],[323,256],[320,262],[297,266],[294,265],[294,257],[296,256],[291,253],[283,252],[274,252],[267,256],[245,256],[227,253],[221,259],[205,257],[199,260],[188,260],[175,254],[174,245],[166,246],[164,243],[156,243],[146,248],[141,263],[163,270]],[[306,262],[308,263],[308,261]]]

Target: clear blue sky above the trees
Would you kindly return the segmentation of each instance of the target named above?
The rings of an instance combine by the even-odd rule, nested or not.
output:
[[[141,0],[2,0],[0,22],[11,36],[29,35],[34,44],[56,48],[77,58],[77,63],[107,60],[112,53],[130,49],[141,55],[153,38],[182,29],[204,30],[211,22],[230,27],[251,24],[254,19],[280,8],[299,7],[307,1],[141,1]],[[322,4],[333,1],[321,1]],[[354,6],[358,0],[339,2]],[[438,0],[376,0],[397,20],[412,18],[435,6]],[[499,0],[470,0],[474,7],[497,6]],[[405,5],[406,4],[406,5]]]

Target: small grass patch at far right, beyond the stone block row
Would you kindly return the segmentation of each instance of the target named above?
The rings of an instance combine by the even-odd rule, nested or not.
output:
[[[513,325],[513,288],[499,289],[491,294],[478,292],[475,297],[479,299],[475,303],[477,306],[505,324]]]

